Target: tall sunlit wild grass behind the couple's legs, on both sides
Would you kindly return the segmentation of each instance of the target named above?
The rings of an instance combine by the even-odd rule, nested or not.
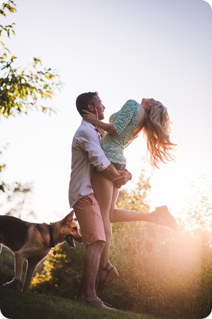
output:
[[[60,247],[34,278],[33,290],[74,298],[83,251],[82,245]],[[202,319],[211,312],[210,233],[120,223],[113,231],[111,262],[120,277],[99,297],[115,308],[171,319]]]

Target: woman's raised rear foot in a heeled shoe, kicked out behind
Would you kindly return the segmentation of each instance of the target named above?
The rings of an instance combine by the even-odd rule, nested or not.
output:
[[[154,217],[154,223],[167,226],[176,231],[178,224],[174,216],[169,212],[167,205],[157,207],[154,212],[151,213]]]

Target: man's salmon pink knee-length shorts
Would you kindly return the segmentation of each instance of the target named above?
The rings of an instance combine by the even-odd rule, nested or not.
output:
[[[80,224],[80,231],[85,246],[97,240],[106,241],[101,211],[94,194],[80,198],[73,205],[73,210]]]

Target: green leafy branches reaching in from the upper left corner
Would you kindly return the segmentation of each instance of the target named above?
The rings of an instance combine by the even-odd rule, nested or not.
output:
[[[5,11],[15,13],[15,4],[9,1],[3,4],[1,15],[6,16]],[[0,25],[0,36],[6,32],[7,36],[15,34],[11,25]],[[4,43],[0,41],[2,54],[0,57],[0,118],[27,114],[31,109],[41,109],[43,113],[55,111],[51,107],[45,107],[41,100],[52,98],[55,91],[62,87],[59,75],[55,70],[42,67],[41,60],[34,57],[34,61],[28,67],[20,69],[15,67],[17,57],[10,53]]]

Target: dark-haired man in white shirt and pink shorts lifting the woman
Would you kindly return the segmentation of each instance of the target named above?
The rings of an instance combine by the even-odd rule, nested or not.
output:
[[[98,93],[83,93],[77,97],[76,107],[80,115],[83,109],[104,119],[104,105]],[[69,183],[69,204],[76,213],[85,244],[83,272],[76,299],[89,306],[108,308],[97,297],[95,288],[99,260],[104,249],[106,237],[99,204],[94,196],[91,184],[92,168],[96,168],[104,177],[114,180],[120,188],[132,175],[118,172],[104,155],[100,143],[100,132],[91,123],[82,120],[72,142],[71,179]]]

